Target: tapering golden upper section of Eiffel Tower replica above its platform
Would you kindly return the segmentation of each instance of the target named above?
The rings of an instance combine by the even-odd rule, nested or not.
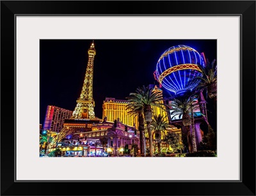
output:
[[[92,84],[93,84],[93,61],[96,55],[96,50],[94,43],[88,49],[88,63],[86,68],[86,73],[84,77],[84,84],[80,94],[77,99],[77,105],[72,114],[72,118],[75,119],[95,119],[94,106],[95,102],[93,100],[92,94]]]

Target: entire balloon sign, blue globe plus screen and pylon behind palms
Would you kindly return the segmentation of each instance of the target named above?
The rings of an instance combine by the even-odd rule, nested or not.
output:
[[[202,76],[200,66],[205,66],[204,53],[200,54],[187,45],[176,45],[165,50],[159,57],[154,76],[160,86],[163,86],[172,97],[179,98],[185,93],[192,92],[195,87],[198,86],[200,80],[195,80],[195,78]],[[190,82],[191,80],[193,80],[193,82]],[[170,100],[170,102],[172,102],[172,100]],[[198,94],[198,98],[195,99],[195,102],[198,106],[193,110],[196,146],[198,146],[204,134],[200,129],[200,124],[205,122],[205,118],[207,119],[206,102],[202,92]],[[173,118],[173,116],[169,114],[169,119],[171,124],[182,128],[182,133],[188,132],[182,124],[182,116]],[[190,133],[191,132],[190,128]],[[188,149],[191,151],[191,141],[189,140],[188,137]]]

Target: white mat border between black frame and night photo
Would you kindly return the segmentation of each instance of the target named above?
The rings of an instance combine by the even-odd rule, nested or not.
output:
[[[16,27],[17,180],[240,180],[240,17],[17,16]],[[217,39],[218,157],[38,157],[40,39]]]

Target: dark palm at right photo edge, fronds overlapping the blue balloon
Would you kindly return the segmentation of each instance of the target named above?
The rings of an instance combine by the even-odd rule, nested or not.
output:
[[[200,80],[200,83],[197,86],[197,89],[202,89],[206,91],[206,96],[211,98],[214,102],[214,107],[216,109],[217,104],[217,64],[216,59],[214,59],[211,63],[209,59],[206,61],[206,65],[200,66],[198,65],[200,70],[202,71],[202,77],[195,77],[195,79],[191,80],[191,82],[195,82],[195,80]]]

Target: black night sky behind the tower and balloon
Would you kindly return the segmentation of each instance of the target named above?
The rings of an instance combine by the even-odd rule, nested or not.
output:
[[[40,124],[47,105],[74,110],[83,86],[92,40],[40,40]],[[165,50],[188,45],[212,61],[217,59],[216,40],[94,40],[93,70],[95,116],[102,118],[106,97],[125,100],[137,87],[158,84],[153,72]],[[164,96],[168,96],[163,89]],[[216,114],[207,100],[209,121],[216,128]]]

